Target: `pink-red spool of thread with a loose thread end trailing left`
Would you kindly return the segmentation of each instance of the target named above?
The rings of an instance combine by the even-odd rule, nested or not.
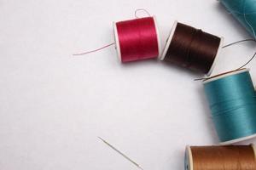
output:
[[[122,62],[160,56],[160,37],[155,17],[113,23],[114,39]]]

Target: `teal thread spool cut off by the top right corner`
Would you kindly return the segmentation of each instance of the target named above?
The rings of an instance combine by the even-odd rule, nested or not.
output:
[[[242,26],[256,38],[256,3],[255,0],[219,0]]]

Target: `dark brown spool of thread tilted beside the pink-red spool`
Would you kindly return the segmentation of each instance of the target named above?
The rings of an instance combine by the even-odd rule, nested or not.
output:
[[[223,37],[175,21],[161,60],[211,75]]]

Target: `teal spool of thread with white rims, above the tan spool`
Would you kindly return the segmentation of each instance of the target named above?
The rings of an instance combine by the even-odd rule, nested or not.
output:
[[[210,77],[204,88],[221,144],[256,136],[256,93],[247,69]]]

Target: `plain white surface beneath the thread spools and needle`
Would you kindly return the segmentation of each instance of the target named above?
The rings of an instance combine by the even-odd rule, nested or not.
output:
[[[218,144],[193,81],[201,75],[154,59],[120,64],[113,47],[73,57],[113,42],[112,22],[137,8],[157,17],[162,47],[174,20],[225,44],[249,37],[215,0],[1,0],[1,170],[137,169],[97,136],[145,170],[183,170],[187,144]],[[244,64],[254,47],[224,49],[215,73]]]

